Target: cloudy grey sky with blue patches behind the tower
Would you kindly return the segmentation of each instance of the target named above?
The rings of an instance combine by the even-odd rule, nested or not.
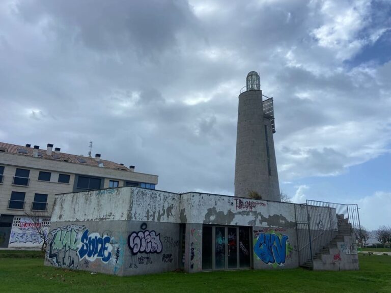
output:
[[[0,1],[0,141],[232,195],[238,94],[274,98],[280,186],[391,224],[391,1]]]

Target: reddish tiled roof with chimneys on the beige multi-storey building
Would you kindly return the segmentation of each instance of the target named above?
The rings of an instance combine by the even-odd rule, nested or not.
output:
[[[33,157],[33,150],[34,148],[31,147],[24,147],[23,145],[17,145],[17,144],[11,144],[11,143],[5,143],[5,142],[0,142],[0,152],[6,152],[9,154],[16,154],[16,155],[21,155],[21,156],[27,156],[27,157]],[[89,166],[95,166],[99,167],[99,163],[95,161],[95,158],[92,157],[84,157],[84,156],[77,156],[77,155],[72,155],[72,154],[66,154],[66,153],[59,153],[56,154],[53,151],[50,156],[46,154],[46,150],[39,149],[38,150],[38,158],[43,158],[43,159],[48,159],[48,160],[53,160],[53,161],[64,161],[68,163],[73,163],[73,164],[79,164],[79,165],[89,165]],[[80,159],[80,161],[85,161],[86,163],[82,163],[78,161],[77,159]],[[83,160],[82,160],[83,159]],[[130,169],[122,166],[120,164],[117,164],[115,162],[107,161],[107,160],[100,160],[100,163],[103,163],[104,168],[110,168],[110,169],[120,169],[123,171],[129,171]]]

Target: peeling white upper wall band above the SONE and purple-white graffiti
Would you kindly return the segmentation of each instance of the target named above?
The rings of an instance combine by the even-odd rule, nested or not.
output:
[[[179,223],[180,195],[136,187],[56,195],[52,221]]]

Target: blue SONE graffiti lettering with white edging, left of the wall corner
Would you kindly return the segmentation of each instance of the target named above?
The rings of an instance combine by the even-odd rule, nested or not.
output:
[[[111,257],[113,246],[110,244],[110,237],[100,237],[99,233],[91,233],[86,229],[80,238],[77,254],[80,260],[86,258],[89,261],[94,261],[100,258],[103,262],[107,262]]]

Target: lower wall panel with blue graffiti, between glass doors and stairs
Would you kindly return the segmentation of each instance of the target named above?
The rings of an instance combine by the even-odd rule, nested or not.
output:
[[[299,266],[296,229],[254,227],[254,269]]]

